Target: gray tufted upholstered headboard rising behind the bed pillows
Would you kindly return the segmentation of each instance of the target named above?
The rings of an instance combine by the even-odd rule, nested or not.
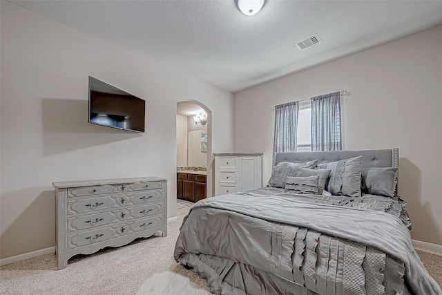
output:
[[[398,149],[371,149],[363,151],[301,151],[296,153],[273,153],[273,167],[280,162],[307,162],[318,160],[320,163],[335,162],[363,155],[363,167],[399,168]]]

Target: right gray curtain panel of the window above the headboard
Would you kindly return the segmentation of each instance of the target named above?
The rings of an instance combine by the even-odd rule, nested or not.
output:
[[[311,151],[342,149],[340,92],[311,98]]]

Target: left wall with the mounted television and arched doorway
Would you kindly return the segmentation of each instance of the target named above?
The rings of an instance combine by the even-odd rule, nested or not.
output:
[[[55,245],[54,181],[165,177],[168,216],[176,216],[177,102],[212,112],[211,154],[233,151],[233,95],[0,2],[0,257]],[[87,123],[89,75],[146,100],[146,133]]]

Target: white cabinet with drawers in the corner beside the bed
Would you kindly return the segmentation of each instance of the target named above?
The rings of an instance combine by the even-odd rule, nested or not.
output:
[[[214,153],[215,196],[262,187],[262,153]]]

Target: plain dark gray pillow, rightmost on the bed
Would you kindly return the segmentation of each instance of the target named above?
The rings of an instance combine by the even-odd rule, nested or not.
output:
[[[396,196],[397,168],[373,167],[362,169],[362,188],[365,193],[393,198]]]

